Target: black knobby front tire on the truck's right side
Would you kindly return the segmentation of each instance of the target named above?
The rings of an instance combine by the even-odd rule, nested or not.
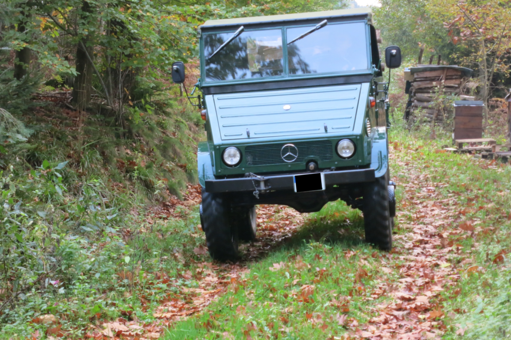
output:
[[[392,221],[389,211],[387,175],[364,188],[365,240],[382,250],[392,249]]]

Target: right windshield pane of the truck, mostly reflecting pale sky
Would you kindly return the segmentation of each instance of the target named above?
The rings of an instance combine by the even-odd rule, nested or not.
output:
[[[367,69],[365,23],[332,25],[311,33],[288,46],[290,75],[355,71]],[[310,27],[287,29],[287,39],[303,34]]]

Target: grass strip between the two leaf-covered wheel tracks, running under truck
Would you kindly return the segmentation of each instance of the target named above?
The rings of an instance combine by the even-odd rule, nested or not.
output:
[[[341,335],[354,320],[375,316],[371,295],[378,297],[382,281],[396,279],[378,265],[382,256],[392,257],[363,242],[360,213],[343,202],[330,203],[311,214],[285,246],[249,264],[250,273],[206,312],[177,323],[165,338]]]

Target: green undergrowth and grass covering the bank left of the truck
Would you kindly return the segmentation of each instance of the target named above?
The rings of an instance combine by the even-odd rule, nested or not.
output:
[[[173,254],[194,248],[199,221],[188,183],[202,120],[181,102],[128,112],[124,136],[114,117],[61,103],[0,112],[0,337],[82,337],[159,301],[158,273],[182,266]]]

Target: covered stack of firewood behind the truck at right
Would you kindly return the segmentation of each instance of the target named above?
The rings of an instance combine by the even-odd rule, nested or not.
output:
[[[447,117],[452,116],[453,112],[451,105],[445,105],[443,103],[445,101],[440,100],[443,95],[454,94],[462,100],[473,100],[462,93],[462,87],[467,78],[464,77],[466,72],[463,72],[461,67],[424,66],[405,70],[405,80],[409,81],[407,116],[414,115],[413,112],[420,110],[428,120],[443,122]]]

